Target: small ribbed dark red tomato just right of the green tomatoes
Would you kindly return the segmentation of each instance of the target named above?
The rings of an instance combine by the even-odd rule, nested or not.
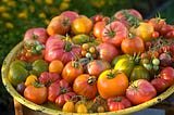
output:
[[[60,80],[61,79],[61,76],[57,73],[48,73],[48,72],[44,72],[41,73],[41,75],[39,76],[38,78],[38,81],[40,84],[44,84],[46,86],[57,81],[57,80]]]

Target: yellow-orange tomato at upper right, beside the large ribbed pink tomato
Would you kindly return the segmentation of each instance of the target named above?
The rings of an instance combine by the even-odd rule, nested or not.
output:
[[[138,27],[132,27],[129,30],[146,42],[152,39],[154,27],[149,23],[141,22]]]

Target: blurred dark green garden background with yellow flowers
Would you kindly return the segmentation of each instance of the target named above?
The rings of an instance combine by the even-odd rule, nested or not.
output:
[[[144,18],[161,14],[174,24],[174,0],[1,0],[0,1],[0,64],[17,44],[28,28],[47,27],[53,16],[65,10],[88,17],[95,14],[112,16],[122,9],[136,9]],[[13,100],[0,79],[0,111],[12,110]]]

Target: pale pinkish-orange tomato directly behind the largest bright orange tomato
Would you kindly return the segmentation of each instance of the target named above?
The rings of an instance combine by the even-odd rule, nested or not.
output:
[[[109,62],[104,60],[94,60],[87,64],[89,75],[98,77],[103,71],[111,68]]]

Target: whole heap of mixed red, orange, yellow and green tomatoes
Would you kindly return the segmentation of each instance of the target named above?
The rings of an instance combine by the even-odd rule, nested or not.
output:
[[[9,80],[27,100],[63,112],[119,111],[174,85],[174,26],[134,10],[112,17],[65,11],[26,30]]]

